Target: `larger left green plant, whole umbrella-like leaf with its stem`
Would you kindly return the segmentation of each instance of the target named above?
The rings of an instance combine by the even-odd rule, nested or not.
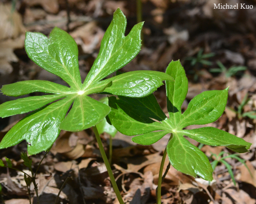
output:
[[[83,84],[78,68],[77,44],[68,33],[57,27],[52,30],[49,38],[41,33],[27,32],[25,49],[29,58],[45,70],[56,74],[70,87],[40,80],[4,85],[2,93],[8,96],[33,92],[49,95],[19,98],[0,105],[2,118],[34,111],[12,127],[1,141],[0,148],[26,140],[28,154],[34,155],[49,149],[60,130],[77,132],[93,127],[113,188],[119,202],[123,203],[95,126],[109,114],[110,107],[88,95],[104,91],[114,95],[144,97],[163,85],[162,81],[173,81],[170,75],[157,71],[132,71],[105,79],[139,53],[142,25],[143,22],[136,24],[124,36],[126,18],[117,9],[104,34],[99,54]]]

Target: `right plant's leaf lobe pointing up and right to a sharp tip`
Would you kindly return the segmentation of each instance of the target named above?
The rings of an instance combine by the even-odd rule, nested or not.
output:
[[[182,114],[180,128],[191,124],[207,124],[216,121],[227,104],[228,88],[222,91],[204,91],[195,96]]]

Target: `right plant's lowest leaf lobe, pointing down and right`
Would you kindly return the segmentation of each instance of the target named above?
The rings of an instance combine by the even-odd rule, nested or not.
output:
[[[213,170],[208,158],[183,135],[174,134],[166,149],[170,164],[174,168],[185,174],[199,175],[204,180],[212,181]]]

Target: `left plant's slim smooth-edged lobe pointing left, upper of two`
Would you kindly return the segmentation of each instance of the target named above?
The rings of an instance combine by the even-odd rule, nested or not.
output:
[[[4,85],[2,93],[8,96],[20,96],[33,92],[69,94],[72,90],[66,86],[42,80],[28,80]]]

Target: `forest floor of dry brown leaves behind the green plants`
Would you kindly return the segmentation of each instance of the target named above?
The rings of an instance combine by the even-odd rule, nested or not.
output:
[[[24,0],[0,1],[0,87],[24,80],[49,80],[64,84],[56,75],[38,67],[24,48],[25,32],[49,35],[57,26],[75,39],[79,48],[79,69],[86,78],[110,24],[119,7],[127,17],[129,33],[137,23],[136,1],[113,0]],[[214,123],[190,125],[189,129],[214,126],[252,143],[250,151],[226,158],[231,171],[219,162],[214,181],[185,175],[172,166],[162,183],[162,203],[256,203],[256,2],[226,0],[225,4],[252,5],[252,9],[214,9],[220,0],[142,0],[143,46],[139,55],[121,71],[165,71],[172,60],[180,60],[189,81],[182,105],[206,90],[229,87],[224,114]],[[70,22],[68,23],[68,19]],[[219,72],[216,69],[219,68]],[[215,72],[214,72],[215,71]],[[217,70],[218,71],[218,70]],[[35,95],[35,94],[34,94]],[[167,114],[165,87],[155,96]],[[102,95],[96,95],[96,99]],[[15,99],[0,95],[0,104]],[[0,139],[25,115],[0,119]],[[156,187],[163,151],[169,135],[150,146],[137,145],[120,133],[113,138],[112,170],[125,203],[156,203]],[[101,134],[109,152],[109,135]],[[196,146],[200,144],[187,138]],[[235,152],[225,147],[200,146],[210,162]],[[26,141],[0,150],[0,159],[11,159],[13,166],[29,173],[20,159],[27,151]],[[220,153],[222,156],[218,156]],[[222,154],[221,153],[221,154]],[[45,152],[32,156],[36,170]],[[242,162],[241,162],[242,161]],[[168,160],[165,162],[166,169]],[[233,176],[233,180],[232,180]],[[58,203],[114,203],[115,193],[91,129],[62,131],[39,166],[37,180],[40,204],[54,203],[63,182]],[[28,204],[24,174],[0,168],[1,198],[6,204]],[[35,192],[31,187],[32,199]]]

